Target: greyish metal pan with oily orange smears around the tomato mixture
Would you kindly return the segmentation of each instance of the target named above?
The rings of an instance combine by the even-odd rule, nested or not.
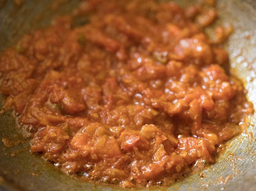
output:
[[[185,6],[196,1],[178,1]],[[0,0],[0,51],[11,46],[26,32],[51,23],[70,12],[78,0]],[[239,77],[247,98],[256,109],[256,1],[217,1],[216,24],[232,23],[234,32],[227,42],[230,71]],[[211,35],[212,30],[207,31]],[[0,95],[2,105],[3,96]],[[217,162],[162,190],[256,190],[256,114],[247,129],[227,142],[228,148]],[[52,163],[29,150],[29,143],[17,129],[10,112],[0,115],[0,190],[118,190],[66,176]],[[154,189],[153,189],[154,190]],[[159,189],[156,189],[159,190]]]

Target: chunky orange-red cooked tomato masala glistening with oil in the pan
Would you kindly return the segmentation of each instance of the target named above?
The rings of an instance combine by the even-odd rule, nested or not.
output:
[[[31,151],[68,174],[168,185],[215,162],[253,112],[219,44],[231,29],[203,32],[216,16],[173,2],[84,1],[2,54],[4,109],[28,129]]]

